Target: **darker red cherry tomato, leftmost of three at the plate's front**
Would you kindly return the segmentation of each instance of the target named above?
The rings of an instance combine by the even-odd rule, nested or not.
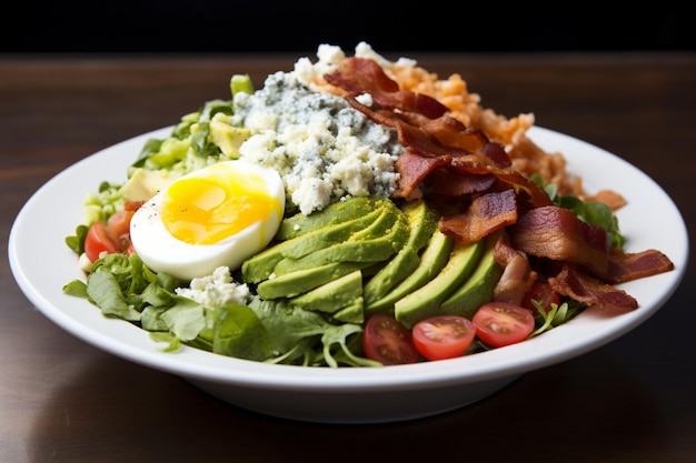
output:
[[[368,319],[362,333],[362,350],[368,359],[385,365],[416,363],[419,359],[408,329],[385,314]]]

